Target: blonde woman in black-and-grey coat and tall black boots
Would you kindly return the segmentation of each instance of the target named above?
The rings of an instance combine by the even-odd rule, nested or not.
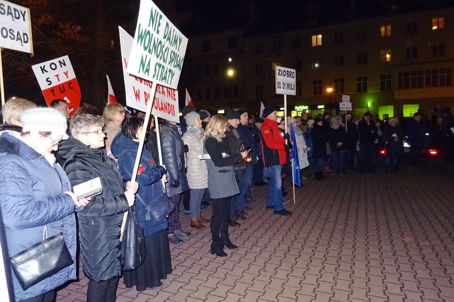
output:
[[[228,141],[224,139],[227,119],[219,114],[211,117],[203,135],[203,152],[210,156],[206,160],[208,168],[208,192],[211,196],[211,254],[225,257],[224,246],[238,248],[229,239],[229,210],[233,195],[240,193],[233,165],[248,155],[247,151],[232,155]],[[219,236],[220,233],[220,236]]]

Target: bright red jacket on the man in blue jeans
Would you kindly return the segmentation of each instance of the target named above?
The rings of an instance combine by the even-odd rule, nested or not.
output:
[[[276,121],[265,118],[260,128],[260,145],[262,146],[263,165],[265,167],[283,165],[287,162],[286,140],[277,125]]]

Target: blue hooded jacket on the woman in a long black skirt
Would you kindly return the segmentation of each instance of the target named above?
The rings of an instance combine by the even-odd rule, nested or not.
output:
[[[138,148],[139,142],[126,137],[122,132],[117,133],[112,140],[112,154],[118,159],[118,169],[125,180],[131,180]],[[136,195],[134,204],[136,205],[137,220],[145,236],[154,235],[167,229],[168,222],[165,218],[159,222],[154,221],[151,217],[151,219],[146,219],[147,207],[149,208],[152,200],[168,201],[167,194],[162,190],[162,182],[160,181],[164,174],[164,167],[156,166],[150,152],[143,149],[136,178],[139,183],[137,194],[143,199],[143,203]]]

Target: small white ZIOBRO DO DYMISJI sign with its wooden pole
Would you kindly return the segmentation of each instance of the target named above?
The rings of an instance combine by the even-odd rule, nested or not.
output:
[[[275,67],[276,70],[276,94],[284,95],[284,121],[287,129],[287,95],[296,96],[296,70],[290,69],[282,66]],[[286,141],[287,143],[287,141]],[[296,142],[294,142],[296,143]],[[292,167],[295,167],[295,160],[292,159]],[[295,201],[295,173],[292,168],[292,179],[293,179],[293,203]]]

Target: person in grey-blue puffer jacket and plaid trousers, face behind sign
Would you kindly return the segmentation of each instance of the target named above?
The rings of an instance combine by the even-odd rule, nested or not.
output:
[[[180,236],[189,236],[191,233],[181,229],[180,223],[180,195],[189,190],[185,172],[185,144],[176,122],[163,121],[161,130],[162,161],[167,169],[166,191],[175,210],[168,216],[168,240],[172,243],[183,242]]]

